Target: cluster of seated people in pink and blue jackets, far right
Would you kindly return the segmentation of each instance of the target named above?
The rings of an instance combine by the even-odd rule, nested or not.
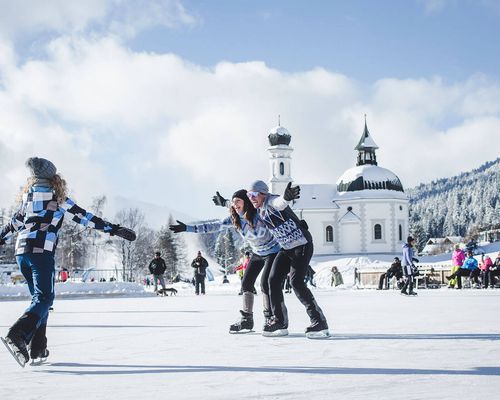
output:
[[[462,278],[468,278],[471,285],[479,288],[495,287],[496,278],[500,277],[500,253],[495,261],[488,255],[481,255],[481,262],[474,258],[474,252],[467,250],[465,253],[460,246],[455,246],[452,254],[451,275],[447,276],[450,288],[462,289]]]

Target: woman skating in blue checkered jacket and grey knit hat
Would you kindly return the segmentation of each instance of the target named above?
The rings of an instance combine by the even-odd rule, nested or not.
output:
[[[52,162],[33,157],[26,161],[26,166],[31,176],[21,193],[19,210],[0,232],[0,244],[18,232],[16,262],[32,296],[30,306],[10,327],[4,340],[21,366],[30,358],[48,356],[46,329],[49,308],[54,301],[54,252],[65,214],[70,214],[78,224],[135,240],[135,233],[130,229],[104,221],[68,198],[66,182]]]

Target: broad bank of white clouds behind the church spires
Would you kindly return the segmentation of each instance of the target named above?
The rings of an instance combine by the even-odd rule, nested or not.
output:
[[[21,65],[0,45],[0,60],[0,205],[37,153],[54,159],[85,199],[136,196],[203,215],[191,208],[209,210],[214,190],[268,177],[267,133],[278,114],[293,137],[297,182],[333,183],[354,164],[364,113],[380,165],[406,187],[499,156],[491,143],[499,140],[500,85],[484,76],[361,85],[320,68],[208,69],[133,52],[114,37],[61,37],[43,60]]]

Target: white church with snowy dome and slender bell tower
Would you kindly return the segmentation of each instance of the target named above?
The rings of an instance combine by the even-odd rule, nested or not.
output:
[[[290,132],[277,126],[269,132],[271,193],[282,194],[293,182]],[[335,184],[300,185],[292,209],[305,219],[315,255],[395,254],[408,236],[408,196],[399,178],[377,164],[377,144],[366,124],[354,148],[356,165]]]

